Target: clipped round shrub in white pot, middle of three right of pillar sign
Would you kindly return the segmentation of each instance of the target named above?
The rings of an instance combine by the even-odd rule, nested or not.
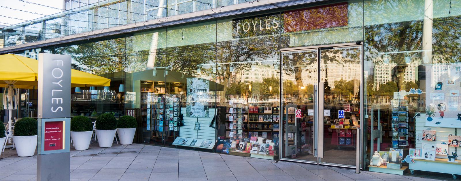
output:
[[[112,147],[117,132],[117,119],[111,113],[104,113],[96,119],[96,138],[99,147]]]

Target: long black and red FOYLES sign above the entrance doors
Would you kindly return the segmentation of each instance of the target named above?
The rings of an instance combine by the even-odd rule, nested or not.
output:
[[[348,25],[348,3],[315,6],[232,21],[232,38],[310,31]]]

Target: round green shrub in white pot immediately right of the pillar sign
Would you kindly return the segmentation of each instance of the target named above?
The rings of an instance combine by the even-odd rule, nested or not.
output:
[[[87,150],[93,135],[93,124],[85,116],[76,116],[71,120],[71,138],[76,150]]]

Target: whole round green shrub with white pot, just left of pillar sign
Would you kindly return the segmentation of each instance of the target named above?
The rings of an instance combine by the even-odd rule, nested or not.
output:
[[[30,157],[37,147],[37,120],[22,118],[14,124],[13,141],[19,157]]]

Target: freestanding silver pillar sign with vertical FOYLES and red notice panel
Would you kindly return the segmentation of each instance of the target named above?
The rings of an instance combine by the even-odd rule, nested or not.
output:
[[[37,181],[70,180],[71,56],[38,56]]]

